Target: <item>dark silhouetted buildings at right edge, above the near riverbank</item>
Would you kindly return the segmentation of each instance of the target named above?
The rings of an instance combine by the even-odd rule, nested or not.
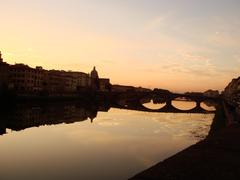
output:
[[[233,79],[223,92],[225,102],[234,108],[236,115],[240,118],[240,77]]]

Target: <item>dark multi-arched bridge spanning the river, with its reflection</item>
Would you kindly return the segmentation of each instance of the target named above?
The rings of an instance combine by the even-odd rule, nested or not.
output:
[[[181,98],[184,101],[194,101],[196,106],[190,110],[181,110],[172,105],[172,101]],[[165,106],[160,109],[149,109],[142,103],[153,99],[158,103],[165,103]],[[177,93],[156,93],[156,92],[143,92],[143,93],[129,93],[124,97],[118,99],[121,102],[114,103],[114,107],[138,110],[146,112],[169,112],[169,113],[214,113],[215,111],[209,111],[201,107],[202,102],[211,101],[214,103],[219,102],[219,98],[206,97],[198,94],[177,94]]]

